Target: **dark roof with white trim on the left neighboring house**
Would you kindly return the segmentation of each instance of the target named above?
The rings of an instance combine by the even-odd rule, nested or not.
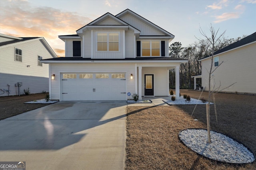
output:
[[[36,40],[41,41],[44,44],[44,46],[46,47],[46,49],[48,49],[48,51],[52,54],[52,56],[54,58],[58,57],[56,55],[56,53],[53,51],[53,49],[50,47],[50,45],[47,43],[47,41],[44,39],[44,37],[17,37],[17,39],[15,39],[15,40],[4,41],[4,42],[0,43],[0,48],[8,47],[9,45],[17,45],[17,44],[21,44],[24,42],[36,41]]]

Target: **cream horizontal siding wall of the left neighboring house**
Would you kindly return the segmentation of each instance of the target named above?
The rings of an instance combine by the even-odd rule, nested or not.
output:
[[[22,62],[15,61],[15,47],[22,50]],[[30,93],[39,93],[42,90],[48,92],[48,64],[43,63],[42,66],[38,66],[38,55],[43,59],[52,58],[40,40],[2,47],[0,49],[0,89],[8,89],[7,84],[10,84],[10,95],[16,95],[15,84],[22,82],[22,94],[28,87]]]

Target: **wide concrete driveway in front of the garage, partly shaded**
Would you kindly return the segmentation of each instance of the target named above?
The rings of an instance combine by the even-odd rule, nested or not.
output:
[[[0,121],[0,161],[32,170],[123,170],[126,102],[58,102]]]

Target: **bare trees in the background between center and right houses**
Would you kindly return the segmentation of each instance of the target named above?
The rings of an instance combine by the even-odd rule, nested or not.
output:
[[[240,39],[243,39],[246,35],[242,37],[237,37],[236,39],[224,37],[220,43],[216,45],[214,51],[218,51]],[[169,57],[175,57],[180,59],[187,59],[188,63],[180,65],[180,88],[181,89],[192,89],[194,88],[194,83],[201,84],[200,82],[194,82],[194,78],[191,76],[201,75],[201,62],[200,59],[204,58],[207,54],[210,54],[208,46],[204,41],[196,41],[193,44],[188,45],[188,47],[182,47],[182,43],[175,42],[169,47]],[[170,88],[175,88],[175,69],[170,70]]]

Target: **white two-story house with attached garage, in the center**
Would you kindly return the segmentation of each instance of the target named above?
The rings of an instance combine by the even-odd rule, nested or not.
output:
[[[59,36],[66,57],[42,61],[55,77],[50,82],[51,99],[127,100],[135,93],[139,100],[168,96],[173,68],[179,94],[180,63],[187,60],[168,57],[174,39],[168,31],[127,9],[116,16],[106,13],[76,33]]]

